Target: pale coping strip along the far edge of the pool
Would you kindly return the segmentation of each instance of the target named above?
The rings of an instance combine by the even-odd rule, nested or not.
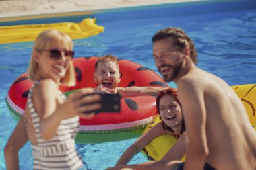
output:
[[[115,12],[115,11],[127,11],[131,9],[145,9],[151,7],[166,7],[166,5],[189,5],[191,3],[214,3],[220,1],[238,1],[238,0],[171,0],[171,1],[160,1],[150,4],[130,4],[124,7],[98,7],[94,9],[66,9],[66,10],[47,10],[47,11],[22,11],[22,12],[12,12],[12,13],[1,13],[0,22],[13,22],[18,20],[28,20],[28,19],[41,19],[49,17],[65,17],[65,16],[77,16],[77,15],[90,15],[94,13],[105,13],[105,12]]]

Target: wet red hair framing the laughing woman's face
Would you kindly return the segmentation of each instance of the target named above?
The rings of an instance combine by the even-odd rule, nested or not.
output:
[[[179,103],[179,106],[181,107],[181,103],[178,99],[177,89],[174,89],[174,88],[164,89],[163,91],[160,91],[158,93],[158,96],[156,97],[156,109],[158,110],[158,113],[160,113],[160,108],[159,108],[160,99],[162,97],[164,97],[164,95],[172,96],[174,98],[174,100],[177,101]],[[160,119],[162,120],[162,117],[160,114],[159,114],[159,116],[160,116]],[[167,124],[165,124],[164,121],[162,121],[162,127],[164,128],[164,130],[169,130],[170,132],[174,133],[174,130],[172,130],[172,128],[170,126],[167,126]],[[186,130],[185,122],[184,122],[184,118],[182,118],[180,134],[185,132],[185,130]]]

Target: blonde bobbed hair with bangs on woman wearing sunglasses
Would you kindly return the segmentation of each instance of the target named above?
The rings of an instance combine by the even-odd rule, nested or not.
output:
[[[65,44],[66,46],[69,46],[71,50],[73,49],[73,41],[67,34],[57,30],[46,30],[41,32],[34,42],[30,64],[28,66],[28,78],[31,81],[41,79],[38,73],[38,63],[34,59],[35,51],[40,52],[40,50],[50,48],[51,44]],[[75,85],[75,71],[72,61],[69,62],[69,67],[65,73],[65,76],[63,79],[61,79],[61,83],[67,86]]]

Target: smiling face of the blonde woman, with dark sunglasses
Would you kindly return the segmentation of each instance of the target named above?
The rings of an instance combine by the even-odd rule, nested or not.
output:
[[[53,79],[59,83],[72,61],[73,52],[71,50],[64,43],[53,43],[40,52],[34,51],[36,52],[35,60],[38,63],[40,76],[43,79]]]

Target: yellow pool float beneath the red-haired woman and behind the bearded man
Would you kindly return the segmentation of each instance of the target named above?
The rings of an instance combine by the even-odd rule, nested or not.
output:
[[[232,89],[236,92],[238,97],[240,97],[245,109],[247,110],[247,114],[249,116],[249,120],[251,125],[256,130],[256,84],[249,85],[234,85]],[[146,127],[143,134],[148,132],[150,128],[158,124],[160,122],[159,116],[156,116],[150,124]],[[150,142],[145,148],[143,148],[142,153],[146,155],[148,160],[160,160],[166,154],[167,151],[174,146],[177,142],[177,139],[170,135],[162,135],[158,138],[155,138]],[[185,156],[181,161],[185,160]]]

